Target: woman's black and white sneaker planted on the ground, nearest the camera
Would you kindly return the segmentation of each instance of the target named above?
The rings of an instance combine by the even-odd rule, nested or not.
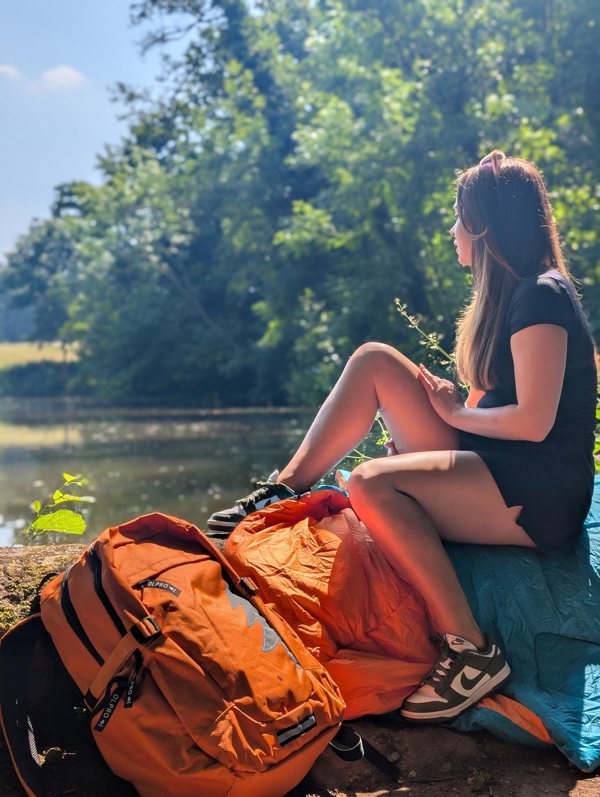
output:
[[[440,661],[406,698],[402,716],[421,722],[451,719],[501,686],[510,667],[494,640],[486,637],[486,643],[478,650],[462,637],[445,634]]]

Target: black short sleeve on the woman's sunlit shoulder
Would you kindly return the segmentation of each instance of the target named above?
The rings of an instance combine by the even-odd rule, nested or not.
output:
[[[575,310],[563,280],[542,274],[519,285],[509,310],[510,334],[536,324],[556,324],[567,332],[572,328]]]

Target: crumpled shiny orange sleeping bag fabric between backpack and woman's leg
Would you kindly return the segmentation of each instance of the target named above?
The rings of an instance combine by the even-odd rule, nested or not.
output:
[[[346,719],[397,709],[436,663],[422,599],[339,491],[317,490],[249,515],[225,553],[333,676]],[[479,706],[551,742],[517,701],[494,695]]]

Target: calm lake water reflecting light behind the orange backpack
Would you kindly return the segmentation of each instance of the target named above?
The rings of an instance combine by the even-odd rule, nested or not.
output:
[[[205,529],[215,509],[230,506],[284,464],[310,420],[310,413],[285,410],[119,410],[0,400],[0,546],[24,542],[31,502],[45,504],[62,486],[63,472],[86,477],[86,491],[96,499],[85,509],[86,541],[151,511]]]

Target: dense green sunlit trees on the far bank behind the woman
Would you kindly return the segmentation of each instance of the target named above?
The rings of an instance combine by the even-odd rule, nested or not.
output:
[[[58,187],[4,269],[34,336],[78,345],[73,390],[313,404],[366,339],[420,356],[396,297],[450,348],[453,183],[495,147],[542,168],[600,321],[597,0],[131,8],[183,55],[160,98],[121,87],[101,185]]]

